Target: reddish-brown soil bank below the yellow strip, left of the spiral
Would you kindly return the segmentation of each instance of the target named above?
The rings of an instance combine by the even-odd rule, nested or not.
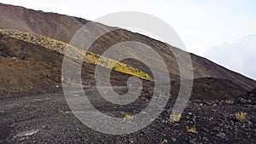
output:
[[[52,89],[61,83],[61,55],[10,37],[0,37],[0,91]]]

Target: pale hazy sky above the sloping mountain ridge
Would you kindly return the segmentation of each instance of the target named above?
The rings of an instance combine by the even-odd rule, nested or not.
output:
[[[87,20],[119,11],[138,11],[165,20],[189,52],[256,79],[254,0],[0,0],[30,9]]]

